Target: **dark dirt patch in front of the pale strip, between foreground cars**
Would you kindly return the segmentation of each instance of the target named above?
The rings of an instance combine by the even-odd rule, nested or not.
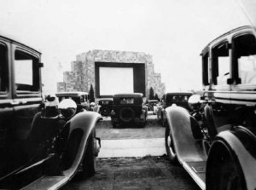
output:
[[[199,190],[182,166],[165,156],[143,158],[97,158],[96,175],[76,176],[62,190],[71,189],[189,189]]]

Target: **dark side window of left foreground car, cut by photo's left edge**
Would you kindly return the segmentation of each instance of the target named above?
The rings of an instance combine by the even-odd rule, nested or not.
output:
[[[7,91],[8,77],[7,47],[0,43],[0,95],[5,94]]]

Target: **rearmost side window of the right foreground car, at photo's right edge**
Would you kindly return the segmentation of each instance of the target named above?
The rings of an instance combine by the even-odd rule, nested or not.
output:
[[[256,83],[256,39],[253,34],[244,34],[233,39],[234,59],[241,84]]]

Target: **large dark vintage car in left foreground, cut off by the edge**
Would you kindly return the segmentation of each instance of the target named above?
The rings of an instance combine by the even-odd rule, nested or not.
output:
[[[0,37],[0,189],[58,189],[92,176],[100,140],[96,112],[73,100],[43,100],[41,54]]]

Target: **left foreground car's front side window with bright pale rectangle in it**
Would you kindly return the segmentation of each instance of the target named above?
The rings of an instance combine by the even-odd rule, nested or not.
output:
[[[15,86],[18,94],[39,90],[38,58],[15,50]]]

